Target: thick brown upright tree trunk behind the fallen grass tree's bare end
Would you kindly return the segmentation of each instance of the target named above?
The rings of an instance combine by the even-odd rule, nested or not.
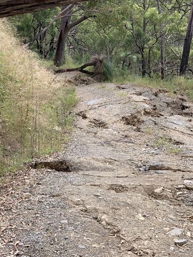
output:
[[[66,9],[67,6],[62,7],[62,11]],[[65,57],[65,45],[67,41],[67,35],[69,31],[69,21],[71,20],[71,15],[73,13],[73,7],[74,5],[71,5],[69,8],[66,9],[66,11],[63,13],[63,15],[66,15],[68,13],[68,16],[64,16],[61,19],[61,27],[60,27],[60,34],[58,38],[58,43],[56,47],[56,53],[54,58],[54,64],[57,67],[60,67],[63,65],[64,57]]]

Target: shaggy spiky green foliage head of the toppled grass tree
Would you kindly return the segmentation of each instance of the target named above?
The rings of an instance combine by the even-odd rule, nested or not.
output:
[[[91,57],[91,63],[94,64],[94,75],[92,76],[97,81],[112,81],[113,80],[113,65],[106,57],[96,54]]]

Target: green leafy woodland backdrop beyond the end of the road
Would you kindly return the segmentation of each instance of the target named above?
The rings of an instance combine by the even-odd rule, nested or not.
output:
[[[93,54],[103,54],[117,69],[143,77],[182,75],[182,52],[187,48],[184,42],[187,35],[192,37],[188,31],[193,30],[192,1],[94,0],[73,4],[66,10],[62,13],[55,7],[10,20],[24,43],[36,39],[30,47],[45,59],[55,57],[55,64],[56,54],[79,64],[89,61]],[[61,33],[65,38],[61,45],[65,47],[58,52]],[[185,70],[191,76],[193,50],[190,39],[188,42]],[[62,65],[63,61],[59,62],[58,66]]]

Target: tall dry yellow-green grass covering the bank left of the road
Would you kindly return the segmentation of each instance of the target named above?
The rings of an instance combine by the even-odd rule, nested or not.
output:
[[[0,22],[0,176],[40,154],[63,148],[73,129],[72,87],[41,65],[37,56]]]

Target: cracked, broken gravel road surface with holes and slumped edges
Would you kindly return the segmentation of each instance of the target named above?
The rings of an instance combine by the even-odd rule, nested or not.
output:
[[[64,153],[1,179],[0,255],[193,256],[192,103],[78,84]]]

